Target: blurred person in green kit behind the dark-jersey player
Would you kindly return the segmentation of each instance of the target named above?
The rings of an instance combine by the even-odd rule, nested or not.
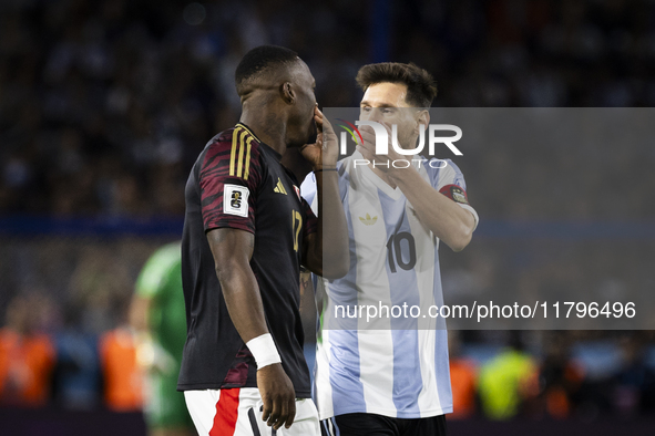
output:
[[[194,435],[184,395],[176,391],[186,318],[180,242],[160,248],[136,281],[131,324],[137,360],[147,370],[145,419],[150,436]]]

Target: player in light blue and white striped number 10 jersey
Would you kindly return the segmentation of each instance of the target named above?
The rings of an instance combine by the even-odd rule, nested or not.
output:
[[[380,63],[361,68],[357,82],[365,92],[360,121],[385,125],[389,137],[396,125],[399,145],[416,148],[437,94],[432,76],[413,64]],[[478,215],[450,159],[401,155],[391,144],[388,155],[376,155],[372,128],[360,133],[357,150],[337,164],[350,269],[341,279],[319,281],[326,299],[314,397],[321,429],[340,436],[443,435],[444,414],[452,412],[444,323],[382,311],[367,323],[367,312],[349,318],[341,310],[339,318],[335,310],[355,315],[357,308],[380,303],[441,305],[439,241],[462,250]],[[399,159],[411,164],[389,165]],[[310,174],[301,190],[313,206],[315,189]]]

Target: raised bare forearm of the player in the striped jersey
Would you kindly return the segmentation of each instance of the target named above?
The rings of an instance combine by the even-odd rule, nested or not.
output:
[[[432,188],[418,172],[408,168],[392,175],[417,217],[453,251],[463,250],[473,235],[473,215]]]

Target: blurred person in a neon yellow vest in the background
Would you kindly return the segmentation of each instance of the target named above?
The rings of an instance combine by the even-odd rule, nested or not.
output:
[[[490,419],[510,419],[539,394],[539,368],[523,350],[520,332],[511,332],[511,344],[480,368],[482,412]]]

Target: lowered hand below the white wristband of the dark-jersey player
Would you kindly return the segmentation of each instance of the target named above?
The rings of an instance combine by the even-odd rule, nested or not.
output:
[[[264,403],[262,419],[274,429],[289,428],[296,417],[296,391],[282,363],[257,371],[257,387]]]

